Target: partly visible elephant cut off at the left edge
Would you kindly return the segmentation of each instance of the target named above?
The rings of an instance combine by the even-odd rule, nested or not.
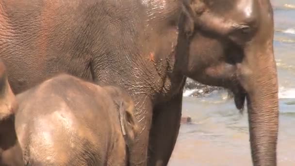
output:
[[[0,166],[23,166],[22,151],[16,136],[17,102],[0,60]]]

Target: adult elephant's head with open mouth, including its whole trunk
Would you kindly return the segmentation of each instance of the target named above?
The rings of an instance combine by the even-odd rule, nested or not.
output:
[[[253,164],[275,166],[279,104],[270,1],[192,0],[186,12],[181,28],[189,48],[188,56],[177,52],[180,70],[230,89],[238,109],[246,100]]]

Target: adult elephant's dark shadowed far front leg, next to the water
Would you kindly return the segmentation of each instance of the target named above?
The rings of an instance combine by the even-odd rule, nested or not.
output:
[[[148,166],[166,166],[180,129],[182,93],[157,105],[149,138]]]

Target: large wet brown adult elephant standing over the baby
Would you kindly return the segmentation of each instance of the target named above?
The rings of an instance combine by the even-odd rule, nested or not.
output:
[[[246,100],[253,163],[276,165],[269,0],[0,0],[0,25],[15,93],[66,72],[132,95],[140,122],[132,165],[168,163],[186,77],[231,89],[239,109]]]

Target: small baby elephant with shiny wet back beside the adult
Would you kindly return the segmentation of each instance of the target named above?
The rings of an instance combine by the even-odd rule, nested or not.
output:
[[[131,97],[60,74],[16,96],[26,166],[126,166],[137,133]]]

